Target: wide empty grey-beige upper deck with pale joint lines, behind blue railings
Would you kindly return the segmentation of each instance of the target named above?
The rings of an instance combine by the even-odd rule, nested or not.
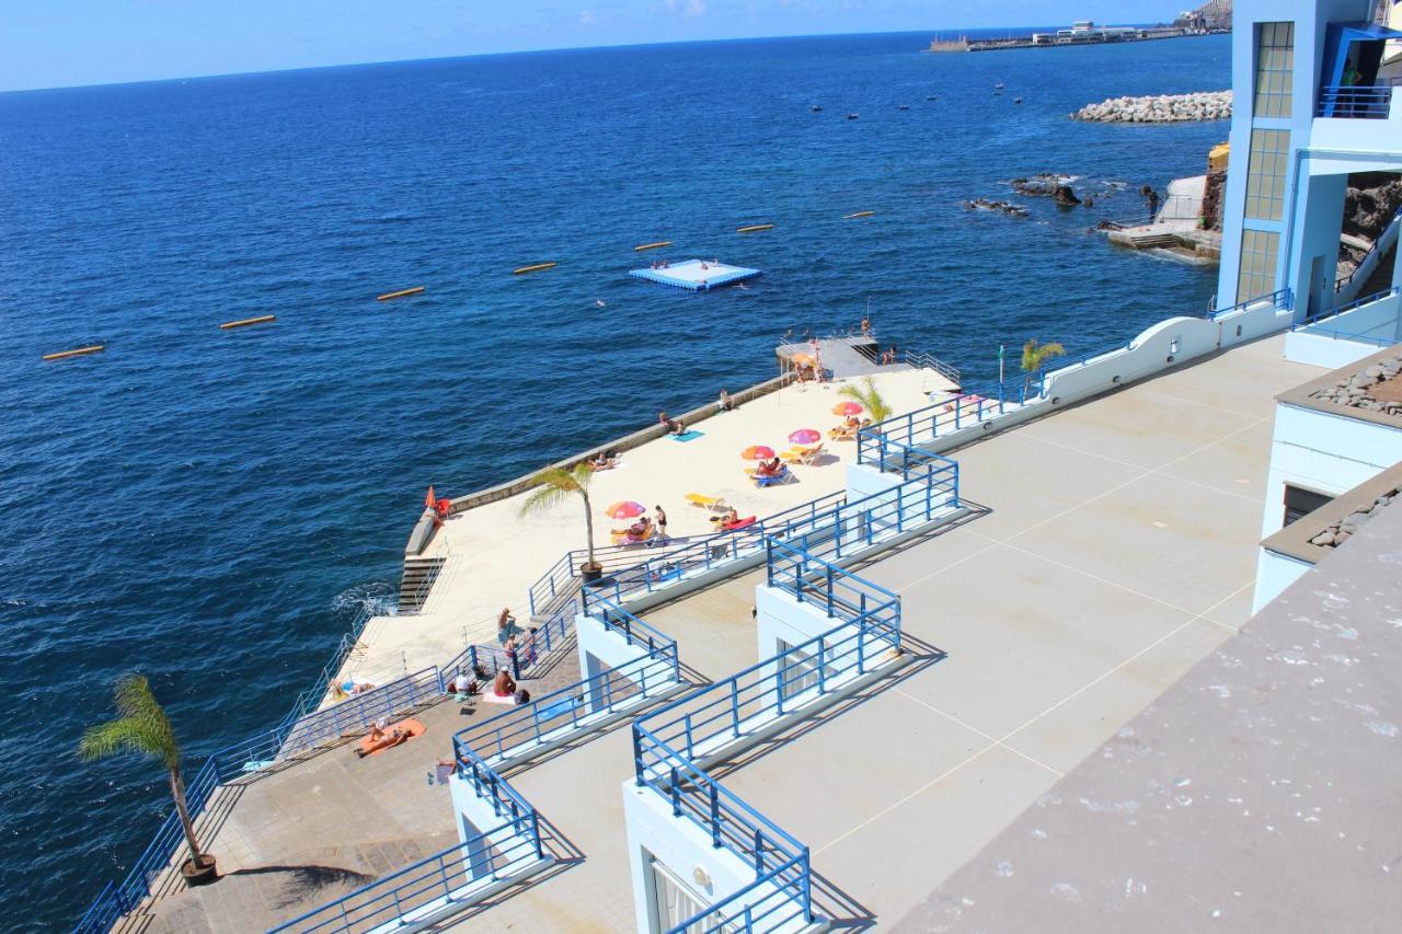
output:
[[[901,595],[916,658],[712,770],[812,847],[823,914],[889,924],[914,910],[1246,621],[1273,397],[1318,372],[1283,360],[1281,345],[1239,346],[965,447],[976,515],[858,568]],[[757,661],[760,582],[645,618],[697,676],[725,677]],[[512,776],[583,860],[464,930],[629,928],[631,776],[624,728]]]

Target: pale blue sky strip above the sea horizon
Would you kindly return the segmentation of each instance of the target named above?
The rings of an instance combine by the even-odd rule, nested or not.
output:
[[[0,0],[0,91],[777,35],[1171,21],[1197,0]]]

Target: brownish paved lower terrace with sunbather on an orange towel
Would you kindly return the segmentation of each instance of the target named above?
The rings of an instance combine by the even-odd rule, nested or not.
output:
[[[543,696],[578,680],[571,638],[520,684]],[[196,825],[219,884],[158,886],[118,930],[262,931],[447,848],[458,840],[451,801],[428,774],[451,762],[453,733],[506,710],[442,700],[411,714],[426,729],[401,746],[359,759],[345,740],[220,788]]]

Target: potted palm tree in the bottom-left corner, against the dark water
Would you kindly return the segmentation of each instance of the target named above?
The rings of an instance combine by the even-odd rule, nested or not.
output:
[[[181,865],[181,875],[186,885],[213,882],[219,878],[219,871],[215,857],[200,850],[195,837],[195,822],[185,804],[185,781],[179,774],[179,743],[170,717],[151,694],[144,676],[128,675],[118,680],[114,697],[122,717],[88,726],[79,742],[79,757],[94,762],[118,753],[139,753],[160,759],[170,773],[171,798],[175,799],[175,813],[185,830],[185,846],[189,847],[189,858]]]

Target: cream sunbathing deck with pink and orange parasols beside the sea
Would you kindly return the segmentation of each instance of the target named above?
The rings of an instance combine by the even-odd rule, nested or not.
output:
[[[876,387],[896,412],[927,405],[930,393],[952,383],[931,370],[893,369],[873,376]],[[725,496],[740,516],[773,515],[845,487],[845,464],[855,461],[855,442],[827,442],[829,456],[813,466],[791,467],[796,482],[756,489],[746,477],[740,452],[768,445],[789,447],[788,435],[815,428],[826,435],[840,419],[831,410],[838,388],[851,380],[795,384],[760,397],[732,412],[697,425],[701,438],[677,442],[660,438],[625,452],[620,466],[594,475],[590,499],[594,508],[594,543],[608,546],[608,532],[627,526],[604,516],[620,499],[632,499],[667,512],[673,539],[708,534],[708,513],[690,506],[684,496],[698,492]],[[526,593],[569,548],[583,548],[582,506],[565,503],[548,513],[522,517],[527,494],[477,506],[451,516],[435,537],[426,558],[446,560],[423,611],[418,616],[376,617],[360,637],[348,673],[369,680],[386,672],[412,672],[442,663],[465,644],[496,644],[496,614],[510,606],[519,618],[529,614]],[[648,548],[638,547],[638,560]]]

